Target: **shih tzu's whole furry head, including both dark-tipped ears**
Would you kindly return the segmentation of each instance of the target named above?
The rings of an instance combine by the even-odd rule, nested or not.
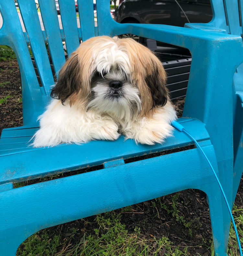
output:
[[[118,118],[150,115],[168,100],[158,58],[133,39],[95,37],[81,43],[59,72],[51,96]]]

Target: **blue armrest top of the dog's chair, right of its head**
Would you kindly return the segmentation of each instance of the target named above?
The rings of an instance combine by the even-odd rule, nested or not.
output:
[[[114,23],[116,22],[114,21]],[[107,32],[108,26],[104,27],[104,29]],[[242,49],[242,39],[240,36],[222,34],[208,30],[192,30],[189,28],[156,24],[119,24],[113,26],[113,29],[110,30],[110,35],[123,34],[122,30],[124,31],[124,34],[131,33],[156,41],[185,47],[190,51],[192,51],[195,46],[202,47],[206,44],[218,44],[223,47],[223,44],[227,44],[227,42],[230,42],[231,48],[238,49],[238,52],[241,52]],[[237,56],[237,58],[238,57],[239,56]],[[238,65],[242,62],[242,59],[242,56],[238,59]]]

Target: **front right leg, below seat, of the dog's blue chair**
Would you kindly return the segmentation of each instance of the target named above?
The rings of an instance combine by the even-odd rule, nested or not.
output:
[[[226,211],[226,207],[224,207],[224,198],[221,196],[221,191],[218,184],[211,184],[210,189],[205,192],[208,196],[209,212],[214,239],[214,253],[215,256],[226,256],[229,230],[228,228],[225,228],[224,230],[224,227],[230,225],[230,219],[227,218],[229,213]],[[218,200],[219,198],[221,198],[221,200]],[[227,223],[228,225],[226,225],[225,221],[229,222]]]

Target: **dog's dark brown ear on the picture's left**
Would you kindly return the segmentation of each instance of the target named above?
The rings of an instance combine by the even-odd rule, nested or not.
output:
[[[64,102],[80,89],[80,66],[78,55],[72,55],[59,72],[56,85],[52,88],[51,97]]]

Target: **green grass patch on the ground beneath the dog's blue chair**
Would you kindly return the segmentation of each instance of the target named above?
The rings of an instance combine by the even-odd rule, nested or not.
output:
[[[95,216],[98,228],[94,235],[85,235],[79,243],[73,245],[70,242],[60,240],[59,236],[49,236],[44,230],[30,236],[23,242],[24,250],[18,249],[17,256],[60,256],[60,255],[85,255],[85,256],[165,256],[188,255],[187,249],[179,250],[167,237],[156,239],[140,238],[140,228],[135,227],[134,233],[129,234],[125,225],[120,222],[121,214],[111,211],[104,216]],[[85,221],[85,220],[81,220]],[[100,234],[102,231],[103,234]],[[73,229],[72,237],[76,230]],[[59,248],[59,250],[58,250]],[[60,250],[60,248],[62,248]]]

